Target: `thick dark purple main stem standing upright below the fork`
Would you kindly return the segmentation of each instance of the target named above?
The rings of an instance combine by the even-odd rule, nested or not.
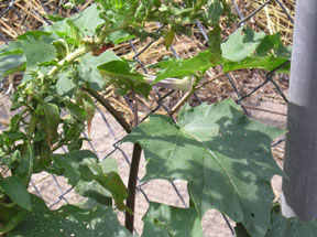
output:
[[[134,227],[134,205],[135,205],[135,188],[139,173],[139,165],[141,160],[142,148],[139,143],[134,143],[132,162],[129,174],[127,206],[131,208],[132,215],[125,212],[125,228],[133,234]]]

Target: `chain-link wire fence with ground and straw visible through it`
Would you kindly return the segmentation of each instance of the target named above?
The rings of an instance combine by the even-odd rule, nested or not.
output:
[[[9,41],[13,40],[20,32],[12,32],[12,28],[10,28],[9,24],[15,26],[15,29],[20,29],[21,33],[23,31],[28,31],[29,29],[34,29],[40,26],[41,24],[51,24],[50,20],[45,18],[46,14],[52,13],[59,13],[64,15],[69,15],[75,12],[79,12],[81,9],[85,9],[91,1],[87,1],[86,4],[83,4],[81,8],[75,8],[74,10],[65,10],[63,9],[63,4],[65,3],[65,0],[59,1],[42,1],[42,0],[34,0],[34,1],[18,1],[18,0],[9,0],[0,3],[0,39],[3,43],[8,44]],[[242,3],[241,3],[242,2]],[[258,2],[258,1],[256,1]],[[259,3],[260,2],[260,3]],[[256,9],[252,9],[252,11],[249,12],[245,11],[243,1],[234,1],[231,0],[231,7],[232,10],[236,11],[236,13],[239,15],[239,20],[236,22],[236,29],[239,26],[242,26],[243,24],[248,23],[254,23],[254,19],[256,19],[256,15],[261,12],[266,12],[267,8],[278,8],[278,12],[282,12],[284,15],[281,15],[281,13],[275,14],[280,15],[280,18],[283,18],[283,20],[288,21],[289,23],[293,23],[293,11],[294,9],[289,9],[289,6],[285,6],[283,1],[281,0],[267,0],[267,1],[259,1]],[[294,4],[293,4],[294,7]],[[24,10],[23,13],[21,13],[21,9]],[[277,11],[277,10],[276,10]],[[247,13],[245,13],[247,12]],[[266,21],[270,21],[270,13],[264,14],[266,15]],[[9,18],[10,17],[10,18]],[[271,15],[272,17],[272,15]],[[274,17],[274,15],[273,15]],[[32,18],[32,20],[31,20]],[[8,20],[11,19],[11,22]],[[261,23],[263,24],[263,18],[261,19]],[[31,24],[31,25],[30,25]],[[157,31],[160,31],[160,23],[156,23]],[[255,21],[256,24],[256,21]],[[265,23],[264,23],[265,24]],[[11,30],[9,30],[11,29]],[[208,46],[208,36],[206,29],[198,20],[196,21],[195,29],[196,32],[200,35],[201,41],[204,41],[204,45]],[[260,26],[261,29],[261,26]],[[272,29],[270,30],[270,33],[272,33]],[[234,31],[233,31],[234,32]],[[233,33],[231,31],[231,33]],[[284,35],[285,36],[285,35]],[[291,43],[287,41],[287,35],[284,37],[286,39],[284,43]],[[289,39],[289,35],[288,35]],[[133,52],[132,58],[138,62],[139,67],[143,73],[147,74],[147,69],[145,67],[146,62],[142,61],[142,54],[146,53],[146,50],[151,47],[156,41],[160,39],[151,39],[147,44],[143,44],[140,47],[139,43],[135,43],[133,40],[129,41],[130,51]],[[179,58],[181,56],[177,53],[177,50],[175,50],[174,45],[170,47],[172,54],[174,57]],[[229,91],[229,95],[227,96],[233,96],[236,98],[237,104],[241,105],[244,114],[249,117],[254,116],[260,118],[261,112],[271,112],[276,116],[282,116],[282,125],[285,122],[285,110],[287,105],[287,97],[285,95],[285,91],[287,91],[287,77],[281,76],[276,74],[276,71],[281,67],[285,66],[289,62],[286,62],[285,64],[281,65],[280,67],[269,72],[263,73],[260,71],[255,72],[242,72],[242,77],[249,77],[249,78],[242,78],[241,75],[228,73],[226,75],[226,82],[222,79],[220,86],[228,87],[230,86],[230,89],[227,89],[226,91]],[[254,79],[256,76],[255,74],[260,74],[263,79]],[[209,77],[215,76],[215,72],[209,71],[207,72],[207,75]],[[261,78],[262,78],[261,77]],[[9,79],[6,78],[1,82],[0,90],[4,95],[6,93],[8,96],[10,96],[11,89],[10,89],[10,83]],[[242,84],[248,83],[248,80],[252,80],[252,86],[250,88],[245,88],[244,86],[241,87]],[[286,80],[286,83],[285,83]],[[283,84],[284,82],[284,84]],[[258,83],[258,84],[256,84]],[[285,87],[286,84],[286,87]],[[281,87],[283,86],[283,88]],[[192,98],[189,99],[189,103],[193,105],[199,105],[203,101],[209,101],[208,97],[206,98],[206,93],[211,93],[211,87],[206,87],[205,91],[198,91],[195,93]],[[157,112],[157,111],[165,111],[166,114],[170,114],[172,106],[177,103],[177,98],[179,96],[178,91],[170,90],[170,89],[161,89],[158,87],[153,87],[153,93],[151,94],[151,101],[152,104],[146,104],[146,101],[142,104],[142,101],[139,105],[138,110],[135,110],[135,106],[132,105],[130,98],[125,96],[122,100],[117,101],[116,106],[121,108],[127,108],[131,111],[131,114],[142,114],[140,116],[140,122],[144,121],[149,115]],[[206,91],[207,90],[207,91]],[[252,107],[250,106],[250,98],[254,97],[260,90],[264,90],[264,93],[270,95],[273,95],[274,98],[277,96],[280,97],[280,104],[283,106],[283,111],[281,112],[280,107],[273,107],[275,108],[275,111],[272,111],[267,108],[261,108],[261,106]],[[219,99],[219,98],[218,98]],[[215,100],[211,99],[211,100]],[[112,100],[113,103],[113,100]],[[97,103],[96,103],[97,104]],[[272,104],[269,104],[269,106]],[[91,141],[86,142],[85,147],[88,149],[91,149],[96,154],[98,154],[99,159],[107,159],[109,157],[114,157],[119,161],[119,170],[122,175],[123,181],[127,182],[128,179],[128,171],[129,165],[131,162],[131,147],[129,144],[121,144],[120,140],[125,134],[124,130],[117,123],[117,121],[111,118],[109,114],[105,109],[102,109],[97,104],[97,116],[95,118],[94,125],[92,125],[92,133],[91,133]],[[254,112],[254,110],[258,112]],[[260,114],[259,114],[260,112]],[[273,119],[274,120],[274,119]],[[270,123],[270,122],[269,122]],[[278,123],[280,125],[280,123]],[[0,129],[4,129],[6,125],[1,125]],[[95,130],[95,131],[94,131]],[[95,132],[95,133],[94,133]],[[87,138],[87,134],[84,133],[84,137]],[[278,144],[283,147],[284,138],[280,138],[278,140],[274,141],[272,143],[272,147],[278,147]],[[66,150],[63,148],[61,152],[66,152]],[[280,149],[281,150],[281,149]],[[141,165],[142,166],[142,165]],[[145,161],[143,161],[143,168],[141,168],[140,176],[142,175],[142,172],[144,172]],[[143,169],[143,171],[142,171]],[[30,190],[34,193],[36,193],[39,196],[43,197],[47,206],[51,208],[56,208],[57,206],[61,206],[63,203],[73,203],[76,200],[79,200],[74,194],[74,191],[72,187],[69,187],[66,184],[65,180],[59,179],[56,175],[53,174],[36,174],[32,177],[31,181],[32,186]],[[165,190],[164,190],[165,188]],[[139,215],[139,219],[136,218],[136,227],[135,227],[135,234],[140,234],[142,230],[142,222],[141,216],[146,211],[146,203],[151,201],[161,201],[163,203],[168,203],[171,200],[168,200],[171,196],[173,196],[172,204],[188,207],[188,196],[186,192],[186,183],[182,181],[175,181],[168,184],[167,182],[161,182],[157,181],[156,183],[152,183],[152,181],[142,183],[138,182],[136,186],[136,213],[135,215]],[[171,204],[171,202],[168,203]],[[143,209],[142,209],[143,208]],[[214,215],[215,213],[212,213]],[[221,216],[223,220],[222,223],[214,222],[212,217],[207,217],[205,219],[205,234],[206,236],[236,236],[234,229],[232,227],[232,222],[229,220],[228,217],[226,217],[222,214],[217,214],[218,216]],[[138,224],[139,222],[139,224]],[[206,224],[207,223],[207,224]],[[211,226],[220,225],[223,231],[219,230],[210,231],[207,229]],[[227,227],[223,227],[227,226]]]

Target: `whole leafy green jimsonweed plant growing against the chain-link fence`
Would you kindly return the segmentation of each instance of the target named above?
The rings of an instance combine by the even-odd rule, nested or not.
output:
[[[73,0],[72,8],[84,1]],[[12,96],[17,111],[0,134],[0,235],[13,236],[132,236],[135,184],[142,149],[147,162],[142,181],[185,180],[189,207],[151,203],[143,217],[142,236],[203,236],[200,220],[211,208],[237,223],[238,236],[313,236],[316,223],[286,219],[275,212],[271,179],[284,175],[271,154],[271,142],[284,133],[278,128],[247,118],[233,100],[190,107],[185,104],[201,88],[207,69],[223,72],[263,68],[287,73],[289,49],[280,34],[265,35],[239,28],[225,42],[219,18],[234,20],[225,0],[97,0],[81,13],[61,18],[29,31],[0,49],[0,78],[23,73]],[[107,50],[134,37],[164,37],[168,49],[176,34],[190,35],[199,20],[208,33],[208,50],[189,60],[167,60],[152,67],[155,75],[135,71],[135,63]],[[155,32],[146,23],[160,22]],[[281,66],[286,65],[286,66]],[[186,90],[167,116],[152,115],[131,128],[99,91],[113,85],[119,96],[149,97],[153,85]],[[116,160],[99,161],[83,150],[91,130],[97,99],[129,133],[133,142],[128,187],[118,174]],[[177,122],[171,119],[178,109]],[[63,112],[63,116],[62,116]],[[90,137],[90,136],[89,136]],[[91,138],[94,139],[94,138]],[[67,148],[66,153],[58,152]],[[158,148],[158,149],[157,149]],[[80,205],[57,211],[28,192],[32,174],[64,176]],[[122,226],[113,206],[125,213]]]

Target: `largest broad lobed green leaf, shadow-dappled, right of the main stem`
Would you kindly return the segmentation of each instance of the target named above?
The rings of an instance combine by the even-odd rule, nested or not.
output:
[[[232,99],[181,111],[178,123],[151,116],[122,141],[139,142],[146,175],[142,181],[182,179],[200,216],[216,208],[241,222],[251,236],[270,227],[271,179],[283,175],[271,153],[278,128],[247,118]],[[164,148],[164,149],[162,149]]]

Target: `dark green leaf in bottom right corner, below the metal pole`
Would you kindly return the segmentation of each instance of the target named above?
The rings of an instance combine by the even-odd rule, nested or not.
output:
[[[265,237],[315,237],[317,234],[317,219],[302,222],[296,217],[285,218],[284,216],[274,216],[272,226]]]

